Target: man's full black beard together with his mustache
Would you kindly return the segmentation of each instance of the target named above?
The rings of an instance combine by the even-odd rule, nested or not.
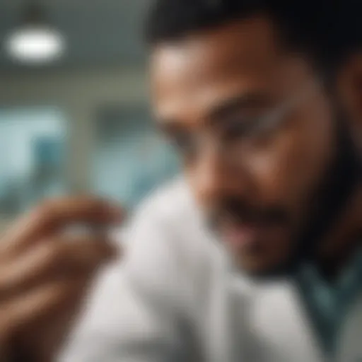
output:
[[[295,274],[300,267],[317,259],[317,252],[328,233],[333,230],[361,183],[361,158],[344,117],[334,119],[334,153],[320,180],[310,192],[305,218],[298,233],[291,237],[293,248],[286,262],[263,271],[243,273],[252,279],[277,279]],[[235,199],[224,200],[219,211],[235,220],[271,222],[291,226],[291,219],[283,209],[261,211]],[[209,226],[218,234],[218,216],[209,218]],[[218,238],[220,239],[220,238]],[[242,268],[243,269],[243,268]]]

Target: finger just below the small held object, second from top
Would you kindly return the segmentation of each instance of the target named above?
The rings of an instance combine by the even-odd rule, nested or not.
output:
[[[108,240],[54,238],[0,267],[1,300],[12,298],[50,279],[91,273],[117,255]]]

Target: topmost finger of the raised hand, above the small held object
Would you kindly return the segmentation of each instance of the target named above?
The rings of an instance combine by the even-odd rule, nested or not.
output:
[[[67,223],[115,224],[122,221],[122,210],[113,204],[94,197],[54,199],[37,206],[21,218],[4,235],[1,243],[7,249],[18,249],[49,235]]]

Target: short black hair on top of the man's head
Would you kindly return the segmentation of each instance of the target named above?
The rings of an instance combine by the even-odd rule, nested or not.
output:
[[[331,0],[156,0],[146,22],[146,40],[151,46],[175,42],[201,30],[266,14],[288,45],[327,66],[337,58],[337,8]]]

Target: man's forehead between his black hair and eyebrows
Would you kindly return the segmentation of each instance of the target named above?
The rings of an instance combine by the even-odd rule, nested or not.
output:
[[[156,117],[196,119],[235,95],[267,91],[274,80],[282,81],[283,50],[273,22],[264,16],[158,45],[151,55]]]

